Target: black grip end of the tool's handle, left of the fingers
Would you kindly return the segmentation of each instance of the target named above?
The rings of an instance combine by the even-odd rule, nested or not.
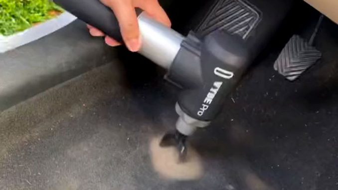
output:
[[[114,12],[99,0],[54,0],[54,2],[80,20],[123,42],[119,22]]]

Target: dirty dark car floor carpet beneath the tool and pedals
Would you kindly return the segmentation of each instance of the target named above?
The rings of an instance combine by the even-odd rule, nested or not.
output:
[[[304,11],[312,16],[288,19],[302,18],[294,30],[309,37],[320,14]],[[322,59],[290,82],[273,64],[294,30],[279,29],[216,120],[189,139],[196,160],[184,170],[159,172],[169,161],[152,148],[174,129],[179,89],[119,47],[110,63],[0,113],[0,189],[337,189],[338,25],[323,20]]]

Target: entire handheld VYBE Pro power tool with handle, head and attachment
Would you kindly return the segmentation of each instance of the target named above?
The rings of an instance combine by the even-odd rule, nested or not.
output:
[[[113,11],[99,0],[54,0],[67,11],[122,42]],[[182,87],[175,109],[176,131],[163,137],[161,146],[176,146],[180,160],[186,139],[216,117],[225,96],[235,87],[249,64],[248,51],[239,36],[216,30],[198,38],[181,34],[137,10],[142,47],[140,54],[168,69],[168,79]]]

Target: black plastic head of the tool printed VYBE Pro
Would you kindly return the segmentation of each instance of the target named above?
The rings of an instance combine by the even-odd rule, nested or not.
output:
[[[244,40],[238,36],[217,30],[200,42],[190,33],[168,75],[184,88],[178,98],[182,111],[200,121],[214,119],[250,61]]]

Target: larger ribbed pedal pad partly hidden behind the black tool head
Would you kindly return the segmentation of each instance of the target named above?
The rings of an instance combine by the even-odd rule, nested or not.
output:
[[[196,32],[204,36],[222,29],[246,39],[260,20],[260,10],[246,0],[217,0]]]

